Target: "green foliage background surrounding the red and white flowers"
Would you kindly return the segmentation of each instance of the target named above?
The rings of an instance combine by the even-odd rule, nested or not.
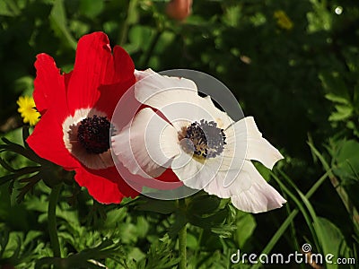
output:
[[[300,252],[303,243],[313,253],[355,257],[358,263],[359,4],[194,0],[192,15],[176,22],[164,12],[167,3],[1,0],[1,134],[22,143],[16,100],[33,91],[35,56],[46,52],[68,72],[77,40],[102,30],[112,46],[127,49],[137,69],[195,69],[226,84],[245,115],[254,116],[285,155],[274,172],[258,169],[289,202],[254,215],[203,193],[185,205],[140,197],[104,206],[70,182],[57,208],[66,266],[101,268],[96,260],[109,268],[176,267],[176,235],[188,222],[188,268],[258,268],[232,265],[230,257],[238,248],[258,255]],[[278,25],[278,10],[285,11],[292,29]],[[3,150],[2,160],[14,169],[33,165]],[[9,172],[0,168],[5,175]],[[1,180],[0,266],[56,265],[47,233],[49,188],[43,182],[29,187],[32,194],[18,204],[26,184]]]

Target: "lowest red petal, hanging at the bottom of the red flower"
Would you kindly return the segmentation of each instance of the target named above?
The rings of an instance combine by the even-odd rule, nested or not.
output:
[[[115,167],[108,169],[76,169],[74,179],[81,187],[102,204],[118,204],[123,197],[135,197],[138,193],[119,177]]]

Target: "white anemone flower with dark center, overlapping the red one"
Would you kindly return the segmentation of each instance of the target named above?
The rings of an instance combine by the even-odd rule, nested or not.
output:
[[[262,137],[253,117],[233,121],[186,78],[148,69],[136,71],[136,80],[136,100],[150,108],[112,137],[113,152],[131,173],[150,178],[171,168],[185,186],[231,198],[245,212],[285,204],[251,162],[272,169],[284,158]]]

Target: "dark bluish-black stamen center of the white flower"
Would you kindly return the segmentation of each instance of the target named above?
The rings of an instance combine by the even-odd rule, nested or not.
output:
[[[214,121],[201,119],[192,123],[186,129],[184,138],[187,138],[185,147],[198,157],[215,158],[223,152],[225,134]]]

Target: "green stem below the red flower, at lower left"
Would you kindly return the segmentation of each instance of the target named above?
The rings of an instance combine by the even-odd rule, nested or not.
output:
[[[48,198],[48,233],[50,236],[51,247],[55,257],[61,257],[60,244],[57,236],[56,209],[57,200],[61,191],[61,184],[53,187]]]

